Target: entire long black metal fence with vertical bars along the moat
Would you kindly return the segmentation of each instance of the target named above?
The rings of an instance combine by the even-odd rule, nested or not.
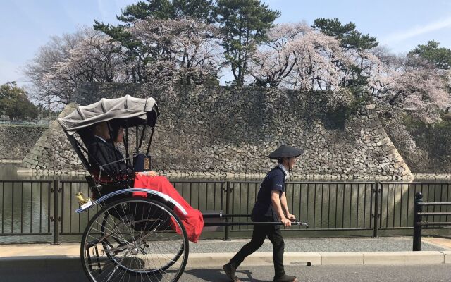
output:
[[[180,195],[195,209],[226,214],[250,214],[259,182],[173,181]],[[298,226],[287,236],[412,235],[414,195],[422,192],[427,202],[451,202],[451,183],[290,182],[286,185],[288,206],[310,228]],[[80,240],[89,219],[82,214],[75,194],[89,195],[84,181],[0,180],[1,243],[25,241],[70,242]],[[451,212],[432,207],[430,212]],[[451,207],[450,207],[451,209]],[[451,214],[440,215],[451,221]],[[230,219],[247,222],[245,217]],[[226,226],[208,233],[216,238],[249,235],[252,226]],[[449,234],[449,230],[447,231]]]

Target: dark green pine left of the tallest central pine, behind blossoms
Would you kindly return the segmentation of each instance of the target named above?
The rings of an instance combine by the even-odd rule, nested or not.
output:
[[[94,29],[101,30],[114,41],[121,42],[125,48],[124,61],[133,66],[132,73],[130,73],[132,82],[140,82],[147,78],[144,66],[154,61],[159,54],[159,49],[158,47],[144,46],[126,28],[134,25],[137,20],[143,20],[147,17],[161,19],[190,17],[202,23],[211,22],[212,3],[212,0],[139,1],[137,4],[126,6],[121,15],[116,17],[123,24],[114,26],[94,20]]]

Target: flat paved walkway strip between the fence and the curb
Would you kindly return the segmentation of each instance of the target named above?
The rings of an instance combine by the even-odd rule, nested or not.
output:
[[[190,254],[237,252],[249,239],[200,240],[190,243]],[[272,252],[269,240],[257,252]],[[423,251],[451,250],[451,238],[424,238]],[[285,238],[285,252],[408,252],[411,237],[384,238]],[[0,257],[80,255],[79,243],[0,245]]]

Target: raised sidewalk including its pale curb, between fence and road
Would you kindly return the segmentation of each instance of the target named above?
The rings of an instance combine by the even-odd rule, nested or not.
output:
[[[200,240],[190,243],[188,267],[220,267],[249,240]],[[411,237],[285,239],[287,265],[451,264],[451,238],[424,238],[421,252],[412,252]],[[264,245],[243,265],[272,265],[272,245]],[[80,244],[0,245],[0,264],[34,265],[42,261],[78,260]],[[38,264],[39,264],[38,263]]]

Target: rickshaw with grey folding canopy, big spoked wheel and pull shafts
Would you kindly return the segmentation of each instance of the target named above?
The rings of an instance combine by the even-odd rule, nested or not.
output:
[[[136,171],[148,171],[152,166],[149,149],[159,116],[153,98],[126,95],[116,99],[101,99],[58,118],[82,165],[89,172],[87,183],[92,199],[77,195],[81,213],[99,206],[87,223],[80,244],[80,259],[85,274],[92,282],[99,281],[178,281],[187,264],[189,243],[187,232],[178,214],[187,214],[173,198],[155,190],[133,188]],[[132,171],[109,173],[105,166],[89,155],[87,149],[94,140],[92,126],[106,122],[110,136],[113,124],[125,130],[125,161]],[[147,131],[149,130],[149,131]],[[135,140],[129,152],[130,140]],[[144,142],[147,149],[141,152]],[[113,141],[109,140],[113,145]],[[114,174],[114,175],[111,175]],[[132,197],[132,192],[146,192],[147,197]],[[233,218],[248,215],[204,213],[204,218]],[[268,223],[233,223],[219,221],[204,226],[256,225]],[[280,224],[280,223],[273,223]],[[300,221],[293,222],[307,226]],[[308,227],[308,226],[307,226]]]

